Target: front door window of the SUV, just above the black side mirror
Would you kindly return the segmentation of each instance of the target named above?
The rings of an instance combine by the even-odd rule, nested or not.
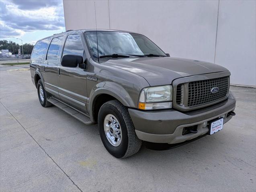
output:
[[[69,35],[63,50],[64,55],[78,55],[83,56],[84,48],[82,46],[81,38],[78,34]]]

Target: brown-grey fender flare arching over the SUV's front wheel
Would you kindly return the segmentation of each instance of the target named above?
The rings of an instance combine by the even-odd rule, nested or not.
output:
[[[88,108],[90,112],[90,118],[93,119],[93,107],[95,99],[101,94],[108,94],[115,97],[124,106],[135,108],[137,107],[137,96],[131,96],[123,86],[115,82],[100,82],[92,88],[90,92],[90,100],[88,102]]]

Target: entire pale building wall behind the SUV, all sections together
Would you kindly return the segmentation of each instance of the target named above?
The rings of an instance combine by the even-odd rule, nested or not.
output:
[[[63,0],[66,30],[144,34],[173,57],[215,62],[231,83],[256,86],[256,1]]]

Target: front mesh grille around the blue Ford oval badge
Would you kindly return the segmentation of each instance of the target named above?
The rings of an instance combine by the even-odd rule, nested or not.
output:
[[[218,88],[218,91],[213,93],[213,88]],[[176,104],[180,108],[203,107],[206,104],[223,100],[227,97],[228,91],[229,76],[185,82],[176,87]]]

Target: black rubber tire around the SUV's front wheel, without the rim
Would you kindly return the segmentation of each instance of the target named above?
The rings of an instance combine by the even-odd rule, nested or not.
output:
[[[104,131],[104,119],[108,114],[114,115],[121,127],[122,140],[119,146],[113,146],[106,137]],[[142,141],[135,134],[133,122],[127,108],[118,100],[104,103],[98,114],[98,127],[100,138],[106,150],[116,158],[126,158],[137,153],[141,148]]]

